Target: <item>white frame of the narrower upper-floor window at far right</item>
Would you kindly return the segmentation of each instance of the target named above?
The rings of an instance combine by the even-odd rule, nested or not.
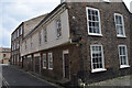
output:
[[[120,24],[117,24],[117,23],[116,23],[116,15],[121,16],[123,35],[118,34],[117,26],[120,25]],[[120,14],[120,13],[114,13],[114,24],[116,24],[117,37],[127,37],[127,36],[125,36],[125,31],[124,31],[124,19],[123,19],[123,15],[122,15],[122,14]]]

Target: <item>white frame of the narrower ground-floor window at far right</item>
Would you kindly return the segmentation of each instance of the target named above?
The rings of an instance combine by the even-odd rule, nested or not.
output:
[[[124,47],[125,48],[125,62],[127,62],[127,65],[121,65],[121,55],[120,55],[120,47]],[[127,68],[127,67],[130,67],[129,65],[129,58],[128,58],[128,50],[127,50],[127,45],[119,45],[118,46],[119,48],[119,61],[120,61],[120,68]],[[124,55],[123,55],[124,56]]]

